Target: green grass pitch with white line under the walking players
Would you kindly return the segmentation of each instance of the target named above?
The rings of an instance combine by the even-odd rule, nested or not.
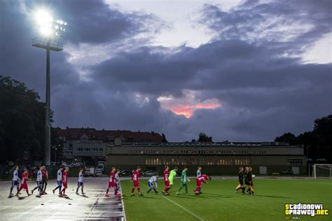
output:
[[[193,194],[195,179],[188,185],[190,196],[185,190],[176,195],[179,179],[174,180],[169,196],[162,196],[148,190],[146,180],[141,179],[139,197],[130,196],[132,183],[122,180],[125,215],[132,220],[287,220],[284,215],[284,204],[324,204],[332,213],[332,180],[300,179],[255,179],[256,195],[235,194],[237,180],[210,180],[202,185],[200,196]],[[165,188],[162,179],[158,180],[158,192]],[[307,217],[300,215],[300,220],[332,220],[328,216]]]

